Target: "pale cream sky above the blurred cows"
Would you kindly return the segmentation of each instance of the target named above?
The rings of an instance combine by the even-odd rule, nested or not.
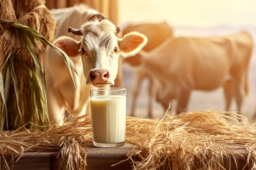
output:
[[[256,26],[256,0],[120,0],[120,25]]]

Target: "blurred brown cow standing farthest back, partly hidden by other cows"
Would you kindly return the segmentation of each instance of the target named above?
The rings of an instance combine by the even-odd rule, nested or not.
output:
[[[129,24],[123,30],[123,34],[127,34],[131,31],[138,31],[143,33],[148,38],[148,43],[143,47],[144,51],[150,51],[154,49],[156,46],[164,42],[168,37],[173,36],[173,29],[168,26],[166,22],[159,23],[143,23],[143,24]],[[139,95],[139,88],[144,79],[148,79],[148,115],[152,116],[152,106],[153,99],[155,99],[156,89],[157,89],[157,81],[154,79],[153,75],[150,75],[149,72],[141,67],[141,57],[139,55],[135,55],[132,57],[125,58],[123,60],[125,64],[132,66],[134,68],[135,75],[135,86],[132,91],[132,99],[131,99],[131,109],[130,116],[135,116],[135,107],[137,97]]]

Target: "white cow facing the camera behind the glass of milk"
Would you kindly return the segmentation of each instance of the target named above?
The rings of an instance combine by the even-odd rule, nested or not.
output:
[[[90,89],[113,85],[119,55],[135,55],[147,43],[147,38],[138,32],[117,38],[119,28],[102,13],[86,5],[51,12],[57,22],[53,44],[65,51],[75,67],[73,81],[61,54],[52,48],[47,49],[43,66],[49,119],[51,123],[63,125],[65,112],[72,115],[71,120],[90,113]],[[77,18],[81,15],[82,18]],[[66,33],[62,32],[63,29]]]

